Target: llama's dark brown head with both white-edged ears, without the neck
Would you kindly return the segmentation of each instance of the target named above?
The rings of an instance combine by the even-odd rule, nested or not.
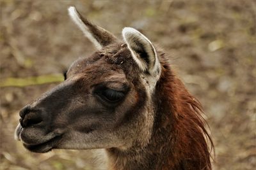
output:
[[[97,51],[76,60],[65,81],[20,111],[15,138],[31,152],[147,145],[161,74],[154,46],[136,29],[125,27],[120,41],[76,8],[68,11]]]

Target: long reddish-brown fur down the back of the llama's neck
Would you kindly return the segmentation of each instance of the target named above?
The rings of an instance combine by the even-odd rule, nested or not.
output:
[[[162,113],[160,117],[163,119],[171,118],[172,123],[159,127],[158,131],[162,129],[169,131],[169,139],[173,140],[173,143],[170,143],[168,163],[163,169],[211,169],[211,153],[205,137],[209,139],[211,145],[212,140],[204,127],[202,106],[189,94],[184,84],[171,71],[170,66],[166,62],[161,64],[163,73],[156,89],[162,94],[159,98],[166,97],[166,99],[162,98],[164,103],[160,104],[159,108],[160,110],[162,107],[169,108],[158,113]],[[164,125],[162,122],[161,124]]]

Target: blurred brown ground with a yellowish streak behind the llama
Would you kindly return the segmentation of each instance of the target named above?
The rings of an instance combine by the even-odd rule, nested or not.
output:
[[[134,27],[172,56],[204,106],[214,169],[256,167],[256,3],[250,0],[0,0],[0,169],[99,169],[90,151],[30,153],[13,139],[19,110],[63,80],[95,48],[67,8],[121,38]]]

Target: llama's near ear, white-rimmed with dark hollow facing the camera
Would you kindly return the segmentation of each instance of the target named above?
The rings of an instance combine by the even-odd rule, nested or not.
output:
[[[159,74],[159,60],[157,59],[156,50],[149,39],[131,27],[125,27],[122,34],[132,53],[132,57],[140,69],[148,71],[150,74]]]

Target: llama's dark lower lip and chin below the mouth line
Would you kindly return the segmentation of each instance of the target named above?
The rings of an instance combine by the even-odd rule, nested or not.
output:
[[[51,151],[57,145],[60,139],[61,139],[61,136],[55,136],[54,138],[44,143],[40,143],[36,145],[23,144],[23,146],[27,148],[30,152],[45,153],[45,152]]]

